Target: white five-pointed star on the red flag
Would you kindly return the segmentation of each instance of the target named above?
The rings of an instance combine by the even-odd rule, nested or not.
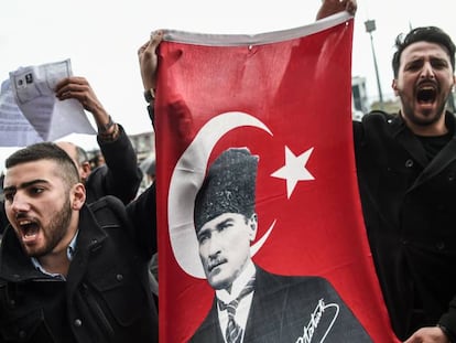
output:
[[[298,181],[315,180],[305,168],[314,148],[308,149],[300,156],[295,156],[285,146],[285,165],[271,174],[273,178],[286,180],[286,195],[290,199]]]

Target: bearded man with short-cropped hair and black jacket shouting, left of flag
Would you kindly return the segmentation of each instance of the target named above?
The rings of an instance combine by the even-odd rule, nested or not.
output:
[[[127,207],[115,196],[87,205],[76,165],[50,142],[6,168],[0,342],[158,342],[154,187]]]

